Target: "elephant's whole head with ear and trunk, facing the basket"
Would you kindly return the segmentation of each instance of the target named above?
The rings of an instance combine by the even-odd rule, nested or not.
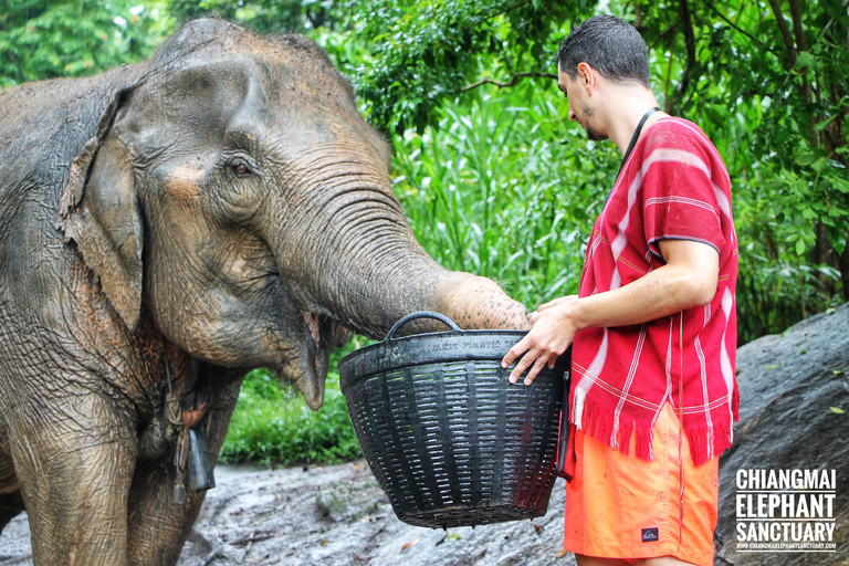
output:
[[[418,310],[526,325],[493,282],[418,245],[388,164],[313,42],[199,20],[117,90],[59,227],[129,331],[149,312],[186,353],[277,368],[317,408],[346,328],[381,337]]]

